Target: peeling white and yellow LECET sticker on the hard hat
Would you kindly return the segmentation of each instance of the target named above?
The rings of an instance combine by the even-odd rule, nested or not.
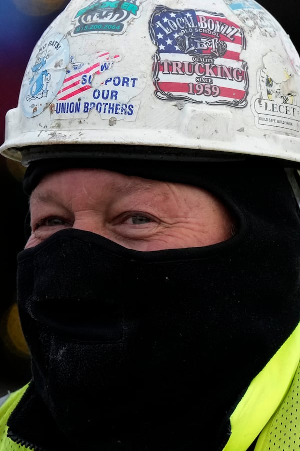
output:
[[[299,76],[269,52],[257,74],[258,95],[251,102],[257,128],[299,131]]]

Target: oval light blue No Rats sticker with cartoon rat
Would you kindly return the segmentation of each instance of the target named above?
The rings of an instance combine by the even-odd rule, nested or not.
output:
[[[69,61],[69,45],[62,34],[47,36],[31,55],[20,92],[20,104],[26,117],[34,117],[47,108],[59,91]]]

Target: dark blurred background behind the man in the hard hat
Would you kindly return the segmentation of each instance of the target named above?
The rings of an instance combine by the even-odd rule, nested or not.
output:
[[[82,4],[85,1],[82,0]],[[4,141],[5,113],[17,105],[31,51],[43,30],[68,2],[0,0],[0,143]],[[259,3],[277,19],[300,52],[299,0],[261,0]],[[25,244],[23,223],[27,212],[22,173],[19,164],[0,157],[0,396],[29,379],[29,358],[15,308],[16,254]]]

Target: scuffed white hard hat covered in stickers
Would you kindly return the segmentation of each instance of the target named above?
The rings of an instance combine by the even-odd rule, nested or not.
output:
[[[254,0],[162,3],[71,0],[33,49],[0,153],[299,162],[300,59],[279,23]]]

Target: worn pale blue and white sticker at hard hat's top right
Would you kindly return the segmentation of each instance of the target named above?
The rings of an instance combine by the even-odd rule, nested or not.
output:
[[[224,0],[230,10],[250,30],[258,28],[262,36],[276,36],[276,24],[262,6],[254,0]]]

